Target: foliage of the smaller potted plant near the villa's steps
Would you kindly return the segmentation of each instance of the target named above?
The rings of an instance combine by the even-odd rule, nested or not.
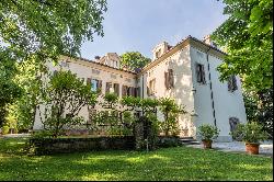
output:
[[[209,124],[202,124],[198,127],[198,135],[202,137],[202,140],[213,140],[219,136],[219,129]]]

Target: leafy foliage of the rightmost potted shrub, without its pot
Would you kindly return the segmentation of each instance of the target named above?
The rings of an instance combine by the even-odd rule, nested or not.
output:
[[[238,124],[236,129],[230,133],[233,137],[240,137],[246,143],[259,144],[267,139],[267,133],[263,130],[263,126],[256,122],[247,124]]]

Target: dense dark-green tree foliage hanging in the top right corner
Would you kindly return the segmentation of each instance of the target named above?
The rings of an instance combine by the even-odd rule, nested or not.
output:
[[[273,87],[273,1],[224,0],[229,18],[213,38],[228,50],[218,67],[221,80],[240,75],[243,87],[264,90]]]

